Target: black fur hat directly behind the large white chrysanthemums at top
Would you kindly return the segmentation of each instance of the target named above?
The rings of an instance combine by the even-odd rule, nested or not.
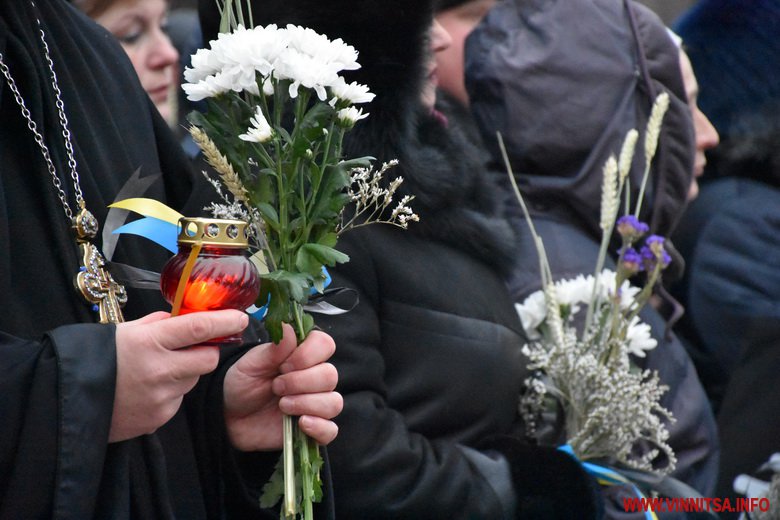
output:
[[[198,7],[204,39],[210,41],[219,27],[216,2],[199,0]],[[357,49],[361,68],[344,78],[368,85],[376,98],[363,105],[370,116],[350,132],[345,151],[379,160],[398,157],[419,107],[432,0],[255,0],[252,10],[256,25],[301,25]]]

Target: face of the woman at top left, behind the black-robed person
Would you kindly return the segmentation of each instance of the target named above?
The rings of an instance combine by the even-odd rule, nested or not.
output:
[[[175,122],[179,53],[165,33],[166,0],[119,0],[95,21],[116,36],[141,85],[169,124]]]

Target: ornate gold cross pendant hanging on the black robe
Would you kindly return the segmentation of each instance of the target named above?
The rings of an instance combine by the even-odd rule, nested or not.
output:
[[[100,323],[121,323],[122,307],[127,303],[124,285],[117,283],[106,269],[106,260],[98,248],[89,242],[97,233],[97,220],[82,208],[73,219],[76,242],[81,253],[81,265],[74,279],[84,298],[95,305]]]

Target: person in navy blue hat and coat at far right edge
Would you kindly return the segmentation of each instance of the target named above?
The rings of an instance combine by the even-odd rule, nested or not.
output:
[[[780,126],[776,72],[780,66],[780,3],[702,1],[676,23],[676,30],[699,79],[699,104],[722,140],[708,154],[701,197],[689,208],[676,236],[690,260],[687,276],[676,287],[680,300],[690,307],[685,332],[708,358],[710,370],[720,374],[712,384],[717,404],[743,350],[740,339],[761,320],[780,317],[780,274],[750,265],[749,258],[756,255],[744,250],[744,234],[729,237],[739,241],[742,253],[735,255],[736,244],[723,244],[731,251],[731,263],[717,267],[713,262],[725,259],[716,258],[710,248],[717,245],[703,236],[712,219],[724,218],[729,207],[746,213],[762,211],[766,204],[748,206],[742,200],[752,192],[767,190],[763,195],[767,196],[780,187],[775,154]],[[753,247],[760,247],[762,255],[771,253],[777,243],[755,238]]]

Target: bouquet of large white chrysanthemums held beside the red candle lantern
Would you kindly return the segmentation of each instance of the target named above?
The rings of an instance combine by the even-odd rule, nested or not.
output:
[[[411,197],[393,206],[402,180],[382,179],[393,163],[374,171],[369,157],[342,158],[345,133],[368,115],[355,105],[374,97],[340,74],[360,67],[357,51],[304,27],[253,27],[242,1],[221,0],[220,9],[218,38],[184,71],[188,98],[206,102],[205,112],[190,115],[190,131],[219,175],[212,183],[224,203],[211,210],[250,223],[271,339],[281,338],[285,322],[302,341],[314,326],[305,306],[323,291],[325,266],[348,260],[335,248],[339,234],[369,222],[405,228],[417,216]],[[285,417],[284,484],[275,474],[261,502],[284,495],[285,517],[311,518],[322,460],[294,426]]]

